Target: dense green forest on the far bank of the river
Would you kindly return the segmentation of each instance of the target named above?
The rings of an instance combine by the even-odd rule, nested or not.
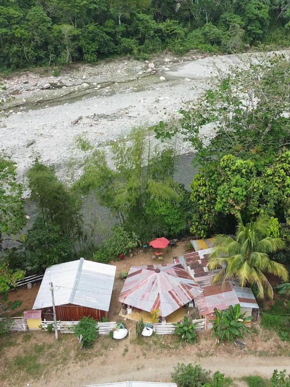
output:
[[[2,0],[0,70],[289,45],[288,0]]]

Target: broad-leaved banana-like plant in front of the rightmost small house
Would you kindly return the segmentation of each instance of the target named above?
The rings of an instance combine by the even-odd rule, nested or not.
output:
[[[246,312],[241,314],[241,305],[237,304],[234,307],[230,305],[229,309],[218,310],[214,309],[215,320],[211,320],[212,337],[215,337],[217,343],[230,341],[235,344],[235,339],[243,339],[244,333],[250,333],[245,324],[252,319],[252,316],[245,317]]]

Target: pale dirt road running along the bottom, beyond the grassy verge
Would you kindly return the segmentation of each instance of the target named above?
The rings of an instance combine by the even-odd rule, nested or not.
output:
[[[234,349],[233,349],[234,350]],[[193,347],[194,351],[194,347]],[[66,374],[59,380],[47,384],[49,387],[72,387],[89,384],[102,384],[124,380],[142,380],[152,382],[170,382],[173,366],[178,362],[200,363],[203,368],[213,372],[220,371],[226,376],[240,378],[246,375],[258,374],[271,377],[273,370],[286,369],[290,373],[290,358],[264,358],[264,357],[220,357],[214,356],[196,360],[194,356],[176,358],[172,356],[159,356],[159,358],[133,359],[126,361],[123,358],[107,358],[102,364],[93,362],[89,367],[74,366],[67,369]]]

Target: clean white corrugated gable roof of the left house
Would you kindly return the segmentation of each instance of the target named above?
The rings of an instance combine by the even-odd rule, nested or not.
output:
[[[73,304],[109,310],[116,266],[81,258],[53,265],[44,273],[32,309],[52,306],[49,283],[55,288],[55,305]]]

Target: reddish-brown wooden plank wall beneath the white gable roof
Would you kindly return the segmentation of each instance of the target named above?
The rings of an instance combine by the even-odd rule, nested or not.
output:
[[[60,305],[55,307],[56,319],[60,321],[78,321],[84,316],[93,317],[95,320],[101,320],[107,316],[104,310],[81,307],[78,305]]]

